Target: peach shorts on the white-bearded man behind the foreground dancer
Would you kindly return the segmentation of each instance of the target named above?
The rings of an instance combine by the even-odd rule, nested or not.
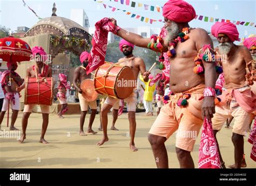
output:
[[[223,90],[223,94],[224,94]],[[242,91],[242,90],[241,90]],[[212,118],[213,130],[220,131],[227,118],[234,117],[233,133],[246,135],[250,125],[251,113],[246,112],[235,98],[232,98],[230,104],[218,104],[215,106],[215,114]]]

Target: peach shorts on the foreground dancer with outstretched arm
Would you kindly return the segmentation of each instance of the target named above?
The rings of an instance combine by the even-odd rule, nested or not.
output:
[[[198,85],[184,93],[191,94],[187,99],[188,105],[180,108],[177,101],[182,93],[170,96],[170,101],[161,108],[160,113],[154,121],[149,133],[165,137],[166,139],[177,131],[176,147],[185,151],[193,151],[194,144],[203,124],[201,119],[201,104],[198,100],[203,96],[205,85]]]

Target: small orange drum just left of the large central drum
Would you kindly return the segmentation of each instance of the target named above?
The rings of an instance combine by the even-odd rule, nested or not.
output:
[[[97,99],[98,93],[95,91],[92,79],[82,81],[80,84],[80,89],[83,90],[82,96],[87,102],[93,102]]]

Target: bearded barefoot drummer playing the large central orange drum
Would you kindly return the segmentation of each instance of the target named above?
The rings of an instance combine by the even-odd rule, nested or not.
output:
[[[150,73],[146,71],[146,66],[143,59],[138,58],[132,54],[134,45],[122,39],[119,43],[119,48],[120,48],[120,51],[125,56],[124,58],[119,59],[119,61],[126,60],[123,63],[120,63],[120,65],[131,67],[133,74],[136,78],[136,81],[137,81],[139,72],[143,74],[143,79],[145,82],[149,81]],[[131,59],[127,60],[129,58]],[[128,119],[130,122],[130,135],[131,135],[130,149],[133,152],[138,151],[138,149],[135,147],[135,144],[134,144],[134,137],[135,137],[135,131],[136,131],[136,119],[135,119],[136,98],[137,98],[136,88],[134,88],[132,94],[124,100],[127,105]],[[119,103],[119,99],[107,97],[105,103],[102,106],[102,109],[100,111],[100,119],[102,121],[104,136],[102,140],[98,142],[97,144],[98,146],[103,145],[104,142],[106,141],[109,141],[109,138],[107,137],[107,113],[117,102]]]

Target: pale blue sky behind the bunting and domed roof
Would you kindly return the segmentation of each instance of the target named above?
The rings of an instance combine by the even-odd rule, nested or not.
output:
[[[100,1],[100,0],[97,0]],[[122,5],[117,2],[110,2],[110,0],[103,0],[107,5],[111,5],[118,9],[127,10],[136,15],[149,17],[152,19],[163,19],[161,13],[150,10],[144,10],[139,8],[138,3],[149,5],[163,6],[167,0],[158,1],[140,1],[131,0],[136,2],[136,8],[131,6]],[[71,9],[84,9],[89,17],[90,26],[93,26],[99,19],[103,17],[114,17],[117,19],[117,23],[121,27],[137,27],[137,26],[151,26],[162,27],[164,23],[154,22],[153,24],[140,22],[140,20],[127,16],[123,11],[111,12],[111,9],[104,9],[103,4],[94,2],[93,0],[25,0],[26,4],[36,11],[39,17],[50,17],[52,13],[52,5],[55,2],[57,8],[57,15],[61,17],[70,18]],[[223,18],[230,20],[238,20],[243,22],[256,23],[256,1],[216,1],[216,0],[187,0],[192,4],[196,10],[197,15],[203,15],[214,18]],[[38,18],[28,9],[23,6],[22,0],[0,0],[0,25],[9,27],[12,30],[16,30],[17,26],[31,27],[38,22]],[[211,22],[203,22],[200,20],[192,20],[190,22],[191,27],[201,27],[206,30],[211,30]],[[239,37],[244,38],[250,34],[255,34],[256,27],[254,26],[242,26],[238,25]]]

